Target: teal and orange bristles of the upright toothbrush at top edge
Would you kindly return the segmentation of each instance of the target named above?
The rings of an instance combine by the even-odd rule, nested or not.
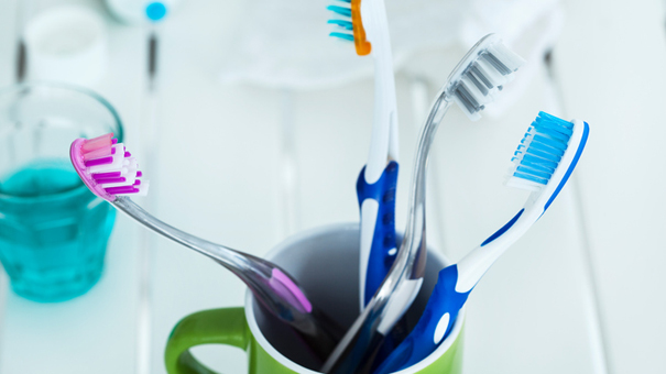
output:
[[[368,0],[367,0],[368,1]],[[336,25],[336,31],[329,35],[342,41],[353,42],[357,54],[367,56],[372,51],[372,45],[365,36],[363,20],[361,19],[361,0],[338,0],[334,6],[326,9],[335,13],[335,18],[328,23]]]

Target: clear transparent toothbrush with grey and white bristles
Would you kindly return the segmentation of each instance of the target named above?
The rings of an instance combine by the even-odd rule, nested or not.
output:
[[[449,75],[421,131],[407,228],[393,267],[365,310],[326,360],[323,372],[371,371],[384,337],[412,305],[423,283],[426,165],[437,127],[454,101],[471,120],[481,118],[479,112],[494,99],[502,85],[513,78],[513,73],[523,63],[523,58],[505,47],[499,36],[490,34],[479,41]]]

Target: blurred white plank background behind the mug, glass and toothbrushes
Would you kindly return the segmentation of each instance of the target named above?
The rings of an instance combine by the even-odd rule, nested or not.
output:
[[[372,59],[327,36],[326,1],[174,0],[153,21],[131,2],[1,0],[0,87],[47,80],[101,95],[150,174],[143,205],[210,241],[264,255],[295,232],[358,221]],[[65,7],[89,10],[92,25],[45,20]],[[483,35],[499,33],[527,64],[479,122],[452,108],[441,123],[428,172],[430,246],[457,261],[513,217],[526,193],[503,177],[539,110],[591,129],[550,213],[471,296],[465,373],[665,373],[664,2],[386,7],[398,230],[430,100]],[[79,56],[81,46],[94,48]],[[2,273],[0,373],[165,373],[173,326],[197,310],[241,306],[244,293],[219,265],[118,215],[101,278],[85,295],[34,302]],[[247,372],[239,353],[194,350],[225,373]]]

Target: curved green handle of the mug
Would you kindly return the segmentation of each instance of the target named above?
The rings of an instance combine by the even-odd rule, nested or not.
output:
[[[168,374],[216,374],[199,363],[189,349],[201,344],[226,344],[247,350],[249,328],[242,307],[198,311],[183,318],[172,331],[164,350]]]

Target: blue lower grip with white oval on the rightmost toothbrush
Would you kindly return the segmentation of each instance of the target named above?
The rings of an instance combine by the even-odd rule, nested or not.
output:
[[[416,327],[373,374],[397,372],[422,361],[437,349],[450,333],[458,311],[471,293],[471,289],[463,294],[456,292],[457,282],[456,265],[439,272],[435,289]]]

